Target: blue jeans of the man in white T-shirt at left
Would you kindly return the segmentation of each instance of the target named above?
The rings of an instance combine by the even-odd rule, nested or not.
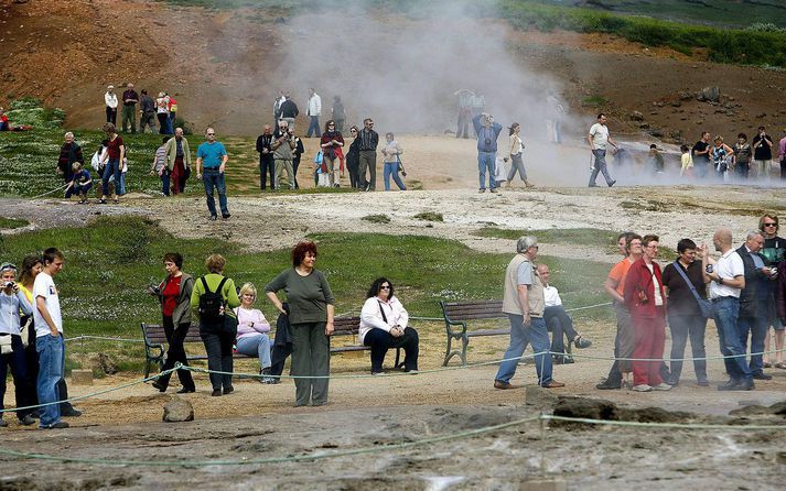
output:
[[[39,404],[60,401],[57,382],[63,378],[65,368],[63,335],[56,338],[52,335],[35,338],[35,350],[39,352],[39,380],[36,384]],[[52,426],[60,422],[60,404],[41,406],[39,414],[41,415],[39,427]]]

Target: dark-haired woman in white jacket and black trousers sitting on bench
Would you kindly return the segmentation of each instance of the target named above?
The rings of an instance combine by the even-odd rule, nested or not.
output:
[[[407,326],[409,314],[394,296],[392,283],[378,277],[368,290],[360,312],[360,342],[372,347],[372,374],[383,373],[385,354],[390,348],[403,348],[405,372],[418,371],[418,331]]]

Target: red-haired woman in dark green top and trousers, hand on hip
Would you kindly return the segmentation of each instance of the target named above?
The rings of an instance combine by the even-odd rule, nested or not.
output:
[[[289,303],[289,323],[292,336],[292,375],[295,378],[295,406],[321,406],[327,403],[333,334],[333,292],[325,275],[314,269],[316,244],[310,240],[292,249],[292,265],[273,279],[265,293],[276,308],[287,312],[277,293],[283,290]],[[312,379],[313,377],[313,379]]]

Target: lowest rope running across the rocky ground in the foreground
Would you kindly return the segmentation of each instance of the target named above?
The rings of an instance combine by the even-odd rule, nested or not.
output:
[[[297,455],[288,457],[269,457],[262,459],[246,459],[240,460],[126,460],[126,459],[99,459],[99,458],[80,458],[80,457],[62,457],[47,454],[31,454],[17,450],[10,450],[7,448],[0,448],[0,455],[6,455],[9,457],[15,457],[19,459],[35,459],[35,460],[51,460],[58,462],[69,462],[69,463],[88,463],[88,465],[99,465],[99,466],[139,466],[139,467],[207,467],[207,466],[249,466],[249,465],[265,465],[265,463],[281,463],[281,462],[301,462],[301,461],[314,461],[336,457],[349,457],[365,454],[379,454],[387,452],[391,450],[410,449],[432,444],[438,444],[442,441],[457,440],[472,438],[478,435],[489,434],[498,432],[500,429],[509,428],[513,426],[519,426],[526,423],[532,422],[543,422],[543,421],[560,421],[577,424],[588,424],[588,425],[606,425],[606,426],[621,426],[621,427],[640,427],[640,428],[660,428],[660,429],[688,429],[688,430],[725,430],[725,432],[773,432],[773,430],[786,430],[784,425],[719,425],[719,424],[701,424],[701,423],[643,423],[643,422],[625,422],[625,421],[609,421],[609,419],[592,419],[584,417],[568,417],[568,416],[556,416],[552,414],[538,414],[535,416],[529,416],[520,419],[516,419],[508,423],[502,423],[497,425],[489,425],[482,428],[469,429],[464,432],[459,432],[451,435],[440,435],[430,438],[422,438],[414,441],[402,441],[399,444],[381,445],[375,447],[360,447],[347,450],[337,451],[326,451],[314,455]],[[542,436],[541,436],[542,438]]]

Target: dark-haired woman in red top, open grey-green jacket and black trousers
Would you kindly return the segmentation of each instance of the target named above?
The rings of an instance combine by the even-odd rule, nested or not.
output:
[[[185,357],[183,340],[191,327],[191,294],[194,290],[194,279],[183,273],[183,257],[179,252],[168,252],[163,258],[166,277],[158,287],[151,288],[150,293],[157,295],[161,302],[162,325],[169,349],[166,350],[166,361],[161,371],[171,370],[175,362],[180,361],[189,365]],[[153,386],[161,392],[166,392],[171,373],[159,377],[153,381]],[[195,392],[194,379],[187,370],[177,370],[181,390],[179,394]]]

